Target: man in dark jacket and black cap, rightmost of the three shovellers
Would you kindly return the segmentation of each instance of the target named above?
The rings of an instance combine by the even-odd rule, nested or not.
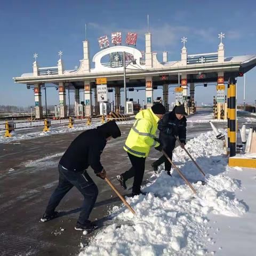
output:
[[[185,111],[184,105],[175,106],[170,113],[166,113],[158,123],[159,140],[165,153],[172,159],[172,151],[175,148],[176,139],[174,135],[179,137],[183,147],[186,145],[186,126],[188,114]],[[152,164],[154,171],[157,172],[158,166],[164,163],[165,171],[171,175],[171,163],[163,155]]]

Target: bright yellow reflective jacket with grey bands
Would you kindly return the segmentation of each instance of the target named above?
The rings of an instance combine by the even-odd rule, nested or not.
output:
[[[124,150],[137,157],[147,157],[151,146],[160,145],[154,140],[159,118],[149,108],[140,111],[135,119],[137,120],[125,141]]]

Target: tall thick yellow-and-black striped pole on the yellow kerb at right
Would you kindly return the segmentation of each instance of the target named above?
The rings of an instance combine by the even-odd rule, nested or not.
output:
[[[230,156],[236,155],[236,80],[229,78],[229,143]]]

